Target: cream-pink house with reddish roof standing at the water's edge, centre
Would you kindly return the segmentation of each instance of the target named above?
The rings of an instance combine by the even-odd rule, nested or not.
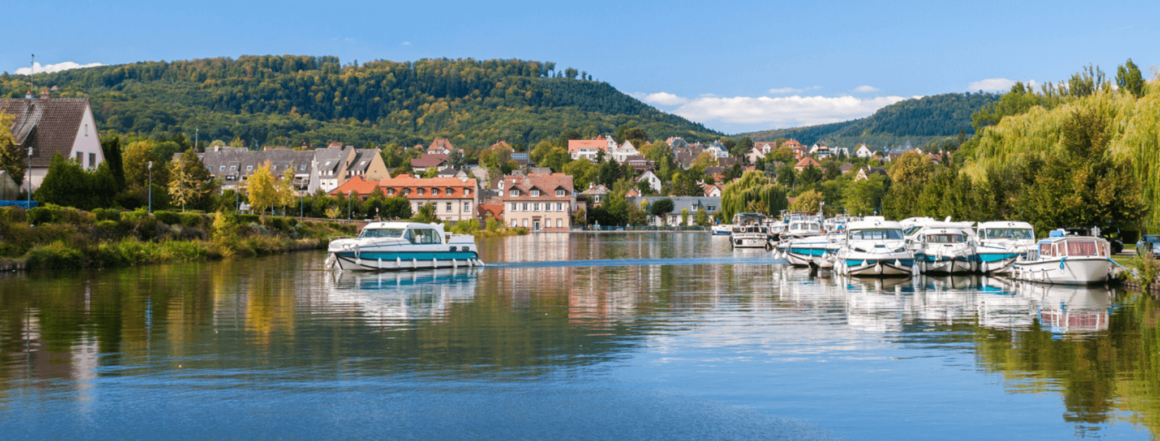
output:
[[[530,231],[567,231],[577,194],[564,173],[503,176],[503,222]]]

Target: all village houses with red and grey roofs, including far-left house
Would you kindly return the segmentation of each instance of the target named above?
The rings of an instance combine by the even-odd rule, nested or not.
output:
[[[8,178],[21,187],[27,186],[27,182],[31,182],[34,189],[39,186],[52,156],[57,153],[74,159],[86,168],[94,168],[104,161],[88,99],[52,99],[49,92],[36,97],[29,93],[23,99],[0,100],[0,111],[14,116],[12,132],[15,143],[30,154],[31,169],[28,179]],[[720,182],[720,178],[734,166],[754,169],[753,164],[778,149],[775,143],[759,142],[742,157],[733,157],[719,140],[690,144],[680,137],[672,137],[666,143],[676,162],[686,169],[693,167],[704,153],[711,154],[717,164],[705,167],[705,174],[716,176],[713,182]],[[496,145],[509,147],[505,142]],[[905,151],[915,150],[907,143],[901,149],[883,153],[863,144],[851,154],[846,147],[829,147],[825,142],[806,146],[795,139],[784,142],[781,146],[793,153],[797,160],[795,168],[798,171],[811,166],[821,167],[820,161],[831,158],[878,158],[890,161]],[[452,167],[450,159],[456,147],[448,139],[437,138],[430,145],[416,145],[415,149],[422,152],[411,160],[414,174],[394,178],[378,150],[356,149],[342,143],[332,143],[320,149],[311,149],[309,145],[261,150],[212,146],[198,153],[198,157],[222,182],[223,190],[242,188],[260,166],[269,162],[277,179],[291,174],[293,188],[303,195],[324,191],[360,197],[374,194],[399,196],[411,201],[412,210],[426,204],[435,205],[436,216],[444,222],[483,220],[492,217],[506,225],[532,231],[571,229],[574,214],[601,205],[608,194],[603,186],[574,188],[572,176],[536,167],[525,152],[512,153],[510,159],[520,166],[519,169],[507,175],[492,176],[490,171],[479,166]],[[644,182],[654,193],[662,189],[662,180],[654,173],[655,164],[645,158],[630,140],[617,143],[610,136],[573,139],[568,142],[567,152],[572,159],[597,161],[600,158],[608,158],[631,165],[637,172],[638,182]],[[938,160],[937,157],[931,159]],[[436,178],[420,178],[430,169],[437,172]],[[855,179],[886,173],[879,167],[854,169],[849,162],[843,164],[841,171],[843,174],[856,173]],[[702,189],[704,193],[699,196],[670,197],[674,201],[673,212],[654,222],[676,225],[683,219],[691,223],[699,210],[716,211],[723,186],[702,183]],[[630,190],[626,197],[630,203],[636,204],[645,201],[651,203],[657,198],[644,197],[636,189]],[[682,212],[689,216],[681,216]]]

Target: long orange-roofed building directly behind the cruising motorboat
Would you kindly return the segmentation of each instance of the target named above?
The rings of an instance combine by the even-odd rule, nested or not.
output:
[[[461,222],[479,217],[479,187],[476,182],[474,179],[425,179],[407,174],[379,181],[355,176],[329,194],[357,194],[367,198],[378,191],[386,197],[405,197],[411,202],[411,212],[419,212],[420,207],[433,204],[435,217],[440,220]]]

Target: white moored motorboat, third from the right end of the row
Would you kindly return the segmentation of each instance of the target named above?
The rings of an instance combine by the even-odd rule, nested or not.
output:
[[[933,222],[908,239],[921,273],[974,273],[978,267],[970,222]]]

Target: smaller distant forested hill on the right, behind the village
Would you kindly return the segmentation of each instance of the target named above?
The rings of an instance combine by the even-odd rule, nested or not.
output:
[[[803,144],[825,139],[831,145],[867,143],[872,147],[899,145],[907,139],[914,145],[929,140],[974,133],[971,114],[999,100],[991,93],[950,93],[902,100],[886,106],[864,118],[804,128],[766,130],[747,135],[754,140],[795,138]]]

